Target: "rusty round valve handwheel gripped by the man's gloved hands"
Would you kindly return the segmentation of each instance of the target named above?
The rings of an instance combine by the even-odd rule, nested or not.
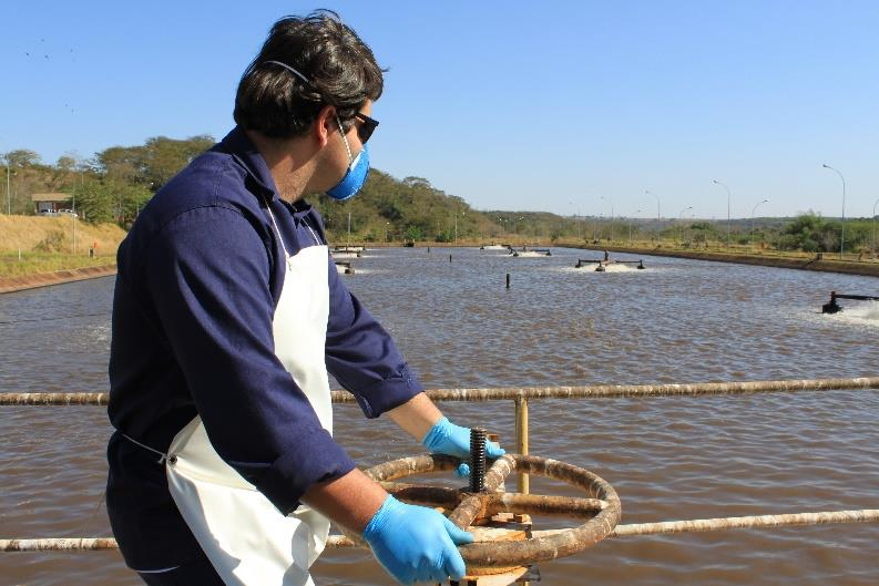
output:
[[[486,490],[480,493],[391,482],[413,474],[454,470],[459,463],[453,458],[420,455],[386,462],[366,473],[397,498],[451,511],[449,520],[461,528],[468,528],[477,518],[498,513],[587,520],[574,528],[535,531],[523,541],[462,545],[459,549],[468,572],[471,568],[528,566],[575,554],[606,537],[620,521],[620,497],[607,482],[582,467],[545,458],[519,454],[499,458],[486,473]],[[583,489],[589,498],[495,492],[513,471],[566,482]]]

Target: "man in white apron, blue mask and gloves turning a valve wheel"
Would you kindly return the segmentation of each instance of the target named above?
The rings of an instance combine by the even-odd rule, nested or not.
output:
[[[387,413],[433,453],[468,452],[469,430],[346,289],[303,199],[360,188],[381,89],[336,14],[279,20],[241,80],[237,127],[120,247],[106,498],[150,585],[313,584],[328,518],[402,584],[464,573],[456,545],[472,536],[389,496],[331,438],[327,371],[367,417]]]

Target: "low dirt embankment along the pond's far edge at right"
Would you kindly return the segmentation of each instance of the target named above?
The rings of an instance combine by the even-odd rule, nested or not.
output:
[[[633,253],[651,256],[668,256],[675,258],[692,258],[695,260],[714,260],[716,263],[738,263],[740,265],[759,265],[764,267],[796,268],[801,270],[818,270],[822,273],[844,273],[847,275],[861,275],[865,277],[879,277],[879,263],[858,260],[834,260],[827,258],[796,258],[784,256],[764,255],[735,255],[702,250],[668,250],[663,248],[640,248],[625,246],[583,247],[586,250],[611,250],[614,253]]]

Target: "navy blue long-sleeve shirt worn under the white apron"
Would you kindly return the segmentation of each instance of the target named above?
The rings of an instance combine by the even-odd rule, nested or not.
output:
[[[236,128],[163,187],[119,255],[110,357],[111,422],[165,452],[196,414],[214,449],[279,511],[354,462],[324,430],[274,351],[289,254],[326,244],[317,212],[278,198],[265,161]],[[329,259],[326,367],[375,418],[422,390],[390,336]],[[197,545],[157,456],[111,439],[108,510],[131,567],[167,567]]]

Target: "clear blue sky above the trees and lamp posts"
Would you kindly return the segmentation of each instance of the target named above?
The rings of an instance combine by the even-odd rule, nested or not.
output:
[[[3,16],[0,152],[219,138],[274,20],[320,7],[389,68],[374,166],[479,209],[655,217],[650,189],[725,218],[717,178],[733,217],[838,217],[822,163],[846,216],[879,198],[876,1],[30,0]]]

